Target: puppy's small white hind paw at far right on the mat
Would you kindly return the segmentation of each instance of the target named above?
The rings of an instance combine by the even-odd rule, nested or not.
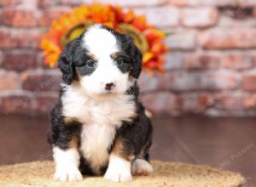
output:
[[[153,172],[153,167],[143,159],[136,159],[131,164],[131,172],[133,175],[148,175]]]

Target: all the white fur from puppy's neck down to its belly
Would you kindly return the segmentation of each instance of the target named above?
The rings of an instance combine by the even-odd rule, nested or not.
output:
[[[108,163],[108,146],[113,143],[116,127],[136,116],[134,96],[91,99],[78,84],[62,87],[66,90],[61,97],[62,113],[67,119],[76,118],[83,123],[80,150],[98,173],[98,169]]]

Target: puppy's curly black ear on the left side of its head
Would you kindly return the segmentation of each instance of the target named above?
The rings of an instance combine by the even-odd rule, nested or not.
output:
[[[74,49],[78,40],[68,42],[58,60],[58,68],[62,72],[63,81],[70,85],[75,77],[75,66],[73,64]]]

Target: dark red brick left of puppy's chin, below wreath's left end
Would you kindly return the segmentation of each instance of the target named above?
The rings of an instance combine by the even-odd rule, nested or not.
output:
[[[22,74],[22,88],[34,92],[57,91],[60,89],[61,75],[43,73]]]

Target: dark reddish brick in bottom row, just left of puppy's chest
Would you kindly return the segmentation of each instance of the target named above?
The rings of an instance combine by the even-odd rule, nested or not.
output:
[[[54,107],[58,99],[57,94],[54,95],[38,95],[33,100],[32,110],[37,115],[48,115]]]

